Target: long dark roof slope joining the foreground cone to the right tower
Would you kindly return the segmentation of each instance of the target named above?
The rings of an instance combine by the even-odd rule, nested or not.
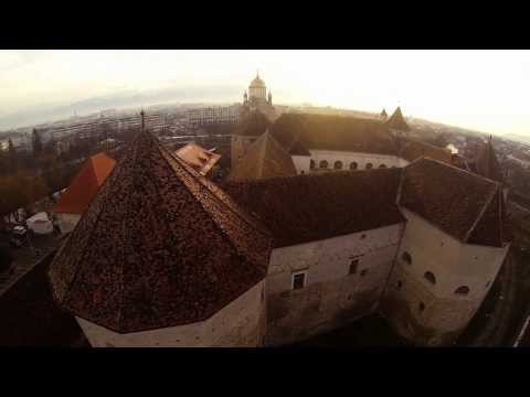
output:
[[[258,216],[275,247],[320,240],[403,222],[395,197],[402,169],[229,182],[223,185]]]

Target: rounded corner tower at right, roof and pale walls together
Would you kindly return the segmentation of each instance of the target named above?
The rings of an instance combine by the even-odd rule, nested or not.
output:
[[[510,247],[500,185],[423,158],[404,169],[398,204],[407,222],[382,312],[420,345],[451,344],[480,307]]]

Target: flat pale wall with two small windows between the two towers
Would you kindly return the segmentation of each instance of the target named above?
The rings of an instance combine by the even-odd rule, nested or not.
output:
[[[267,273],[267,345],[309,337],[378,308],[402,225],[273,249]],[[305,287],[293,277],[305,273]]]

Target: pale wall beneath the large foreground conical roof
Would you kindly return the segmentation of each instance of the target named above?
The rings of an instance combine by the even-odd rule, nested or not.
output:
[[[265,333],[265,280],[210,319],[160,330],[119,334],[76,318],[93,347],[258,346]]]

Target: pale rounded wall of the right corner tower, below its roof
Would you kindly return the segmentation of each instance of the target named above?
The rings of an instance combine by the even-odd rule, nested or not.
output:
[[[385,293],[386,318],[420,344],[456,337],[480,307],[508,253],[464,244],[418,215],[407,219]]]

